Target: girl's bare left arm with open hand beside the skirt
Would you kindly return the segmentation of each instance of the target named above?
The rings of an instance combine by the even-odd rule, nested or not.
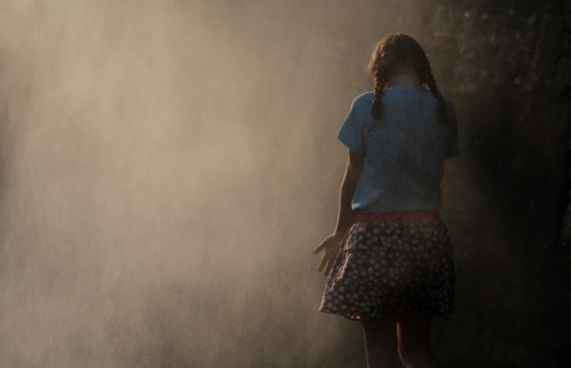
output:
[[[353,200],[353,194],[355,194],[355,188],[357,188],[357,183],[359,182],[361,171],[363,170],[363,157],[363,154],[349,150],[347,169],[345,170],[345,177],[341,184],[339,213],[337,216],[335,232],[326,237],[325,240],[323,240],[323,242],[313,250],[314,255],[325,250],[318,267],[319,272],[325,269],[323,271],[325,276],[329,275],[331,272],[335,257],[337,257],[337,253],[340,250],[340,242],[351,228],[351,225],[353,225],[351,201]]]

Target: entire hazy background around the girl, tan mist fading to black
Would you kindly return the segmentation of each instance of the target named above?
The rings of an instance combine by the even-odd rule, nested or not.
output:
[[[364,367],[335,138],[403,31],[455,103],[444,367],[569,367],[569,1],[0,1],[0,365]]]

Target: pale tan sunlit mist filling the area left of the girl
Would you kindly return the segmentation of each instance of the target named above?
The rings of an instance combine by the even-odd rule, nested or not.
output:
[[[0,1],[0,365],[364,366],[360,324],[317,312],[310,250],[335,225],[335,134],[370,52],[394,31],[423,44],[423,9]],[[474,87],[434,59],[462,118]],[[465,208],[489,193],[479,168],[446,170],[454,241],[483,231]],[[522,267],[474,242],[465,280],[487,255]]]

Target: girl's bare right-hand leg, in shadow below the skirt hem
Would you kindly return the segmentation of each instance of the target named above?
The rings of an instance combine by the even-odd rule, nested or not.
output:
[[[398,353],[406,368],[438,368],[440,364],[430,351],[432,317],[418,313],[398,316]]]

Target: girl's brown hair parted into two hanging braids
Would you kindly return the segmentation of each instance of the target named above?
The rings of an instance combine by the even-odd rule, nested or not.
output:
[[[383,89],[390,76],[413,71],[418,81],[426,84],[438,100],[440,120],[447,120],[446,103],[436,87],[426,53],[412,37],[406,34],[390,34],[380,40],[370,58],[367,71],[375,77],[375,96],[371,110],[375,119],[381,116]]]

